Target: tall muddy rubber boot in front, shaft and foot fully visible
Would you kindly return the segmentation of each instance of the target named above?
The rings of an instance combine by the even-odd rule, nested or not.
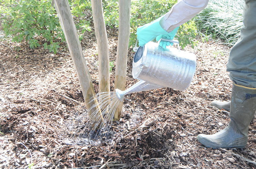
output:
[[[233,84],[229,125],[212,135],[199,134],[197,140],[206,147],[243,148],[248,141],[248,128],[256,112],[256,88]]]

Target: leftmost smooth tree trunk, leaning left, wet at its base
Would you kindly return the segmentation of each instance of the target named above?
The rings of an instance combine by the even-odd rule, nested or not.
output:
[[[103,123],[103,117],[97,99],[94,98],[95,92],[91,76],[89,74],[82,47],[79,42],[76,27],[70,11],[68,0],[54,0],[54,4],[59,16],[60,24],[64,32],[69,52],[71,54],[77,76],[82,88],[88,116],[92,123]],[[95,115],[96,114],[96,115]]]

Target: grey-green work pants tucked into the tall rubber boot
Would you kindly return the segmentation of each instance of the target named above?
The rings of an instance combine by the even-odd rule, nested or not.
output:
[[[256,0],[245,0],[243,23],[227,71],[235,84],[256,88]]]

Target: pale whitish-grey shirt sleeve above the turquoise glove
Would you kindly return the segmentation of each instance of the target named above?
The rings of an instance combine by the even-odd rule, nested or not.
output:
[[[173,31],[196,16],[208,2],[209,0],[179,0],[160,20],[161,27],[167,32]]]

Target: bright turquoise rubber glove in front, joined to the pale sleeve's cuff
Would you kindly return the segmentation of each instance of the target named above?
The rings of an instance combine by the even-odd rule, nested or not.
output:
[[[137,28],[137,39],[139,41],[139,46],[144,46],[146,43],[155,39],[158,35],[168,34],[159,24],[160,19],[154,20],[153,22],[143,25]]]

